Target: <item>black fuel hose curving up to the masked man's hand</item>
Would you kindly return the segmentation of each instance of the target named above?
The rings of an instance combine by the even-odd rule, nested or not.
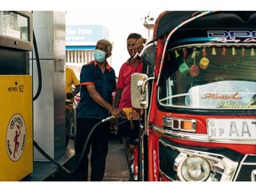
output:
[[[106,123],[106,122],[110,121],[110,120],[113,119],[113,118],[115,118],[115,116],[108,116],[107,118],[102,119],[100,122],[98,122],[97,124],[95,124],[95,125],[92,127],[91,132],[89,132],[88,137],[86,138],[86,140],[85,140],[85,142],[84,142],[84,148],[83,148],[83,151],[82,151],[82,153],[81,153],[81,156],[79,157],[79,161],[78,161],[78,163],[76,164],[76,167],[75,167],[75,169],[74,169],[73,171],[69,171],[66,167],[64,167],[63,165],[59,164],[55,159],[53,159],[51,156],[49,156],[47,153],[45,153],[45,151],[44,151],[42,148],[39,147],[39,145],[36,143],[35,140],[33,140],[33,144],[34,144],[34,146],[39,150],[39,152],[40,152],[43,156],[45,156],[46,158],[48,158],[53,164],[56,164],[56,165],[60,168],[61,171],[66,172],[66,173],[68,173],[68,174],[75,174],[75,173],[77,172],[79,166],[81,165],[82,161],[83,161],[84,152],[85,152],[85,149],[87,148],[88,142],[89,142],[89,140],[90,140],[90,138],[91,138],[91,136],[92,136],[92,132],[94,132],[94,130],[97,128],[97,126],[98,126],[99,124],[101,124],[101,123]],[[124,120],[124,121],[122,121],[122,123],[120,123],[120,124],[124,124],[126,121],[128,121],[128,120]],[[120,124],[118,124],[118,125],[120,125]]]

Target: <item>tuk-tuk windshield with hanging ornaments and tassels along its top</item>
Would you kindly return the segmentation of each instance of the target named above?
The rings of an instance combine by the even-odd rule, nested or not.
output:
[[[254,46],[194,45],[169,50],[158,84],[160,105],[255,109]]]

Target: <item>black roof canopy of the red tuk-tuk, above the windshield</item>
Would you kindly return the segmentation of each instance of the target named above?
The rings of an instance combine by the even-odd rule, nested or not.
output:
[[[164,34],[169,34],[174,28],[180,26],[181,23],[191,19],[200,12],[197,11],[164,11],[156,19],[154,26],[153,39],[156,40]],[[206,15],[205,15],[206,16]],[[221,11],[212,12],[202,19],[195,20],[193,27],[225,27],[236,25],[239,27],[256,27],[256,12],[252,11]],[[221,22],[220,22],[221,20]],[[234,27],[234,26],[233,26]]]

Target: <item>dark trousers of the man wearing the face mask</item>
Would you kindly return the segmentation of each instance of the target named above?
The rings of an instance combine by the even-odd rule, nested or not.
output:
[[[82,155],[85,140],[88,136],[90,136],[89,133],[94,125],[99,122],[100,119],[77,118],[75,138],[76,163],[79,161],[79,158]],[[92,149],[90,161],[92,168],[91,180],[103,180],[106,167],[106,157],[108,155],[108,135],[108,122],[101,123],[96,127],[96,129],[94,129],[85,150],[83,162],[78,169],[79,172],[76,175],[76,180],[86,181],[88,178],[90,148]]]

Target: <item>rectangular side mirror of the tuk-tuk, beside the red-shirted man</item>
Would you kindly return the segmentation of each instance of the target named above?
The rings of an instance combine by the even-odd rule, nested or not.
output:
[[[131,98],[133,108],[148,108],[148,76],[146,74],[132,74]]]

